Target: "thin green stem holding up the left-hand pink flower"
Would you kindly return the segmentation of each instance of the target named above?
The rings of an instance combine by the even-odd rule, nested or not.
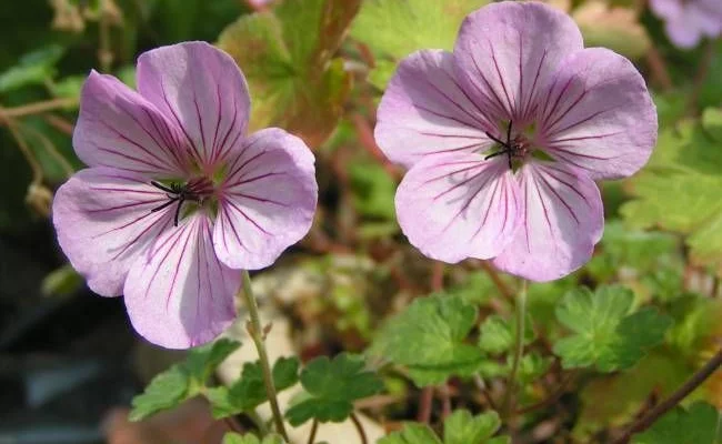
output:
[[[255,350],[258,350],[259,361],[261,362],[261,369],[263,370],[263,383],[265,384],[265,393],[271,404],[271,411],[273,412],[273,422],[275,423],[275,428],[278,433],[283,436],[283,438],[289,442],[289,436],[285,433],[285,426],[283,425],[283,416],[281,415],[281,410],[279,408],[279,402],[275,395],[275,386],[273,385],[273,374],[271,373],[271,365],[269,364],[268,353],[265,352],[265,344],[263,343],[263,329],[261,327],[261,319],[258,314],[258,302],[253,296],[253,291],[251,289],[251,276],[248,274],[248,271],[243,270],[241,272],[243,278],[243,299],[245,300],[245,307],[248,309],[249,316],[251,321],[248,324],[248,332],[253,339],[255,344]]]

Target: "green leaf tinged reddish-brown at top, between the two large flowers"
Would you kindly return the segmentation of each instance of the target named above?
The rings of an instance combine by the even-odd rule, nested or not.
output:
[[[249,82],[251,130],[282,127],[311,147],[337,127],[351,90],[333,59],[360,0],[285,0],[271,12],[241,17],[219,37]]]

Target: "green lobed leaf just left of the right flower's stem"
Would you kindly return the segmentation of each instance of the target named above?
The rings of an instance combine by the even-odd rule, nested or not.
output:
[[[484,362],[484,353],[465,342],[475,322],[477,307],[461,296],[418,299],[387,322],[370,353],[408,366],[420,386],[470,376]]]

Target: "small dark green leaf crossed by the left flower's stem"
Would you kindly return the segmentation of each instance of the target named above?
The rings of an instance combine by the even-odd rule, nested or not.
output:
[[[281,357],[271,371],[277,392],[282,392],[299,381],[298,357]],[[212,406],[213,417],[221,418],[249,412],[268,400],[263,371],[260,362],[245,363],[241,377],[231,386],[209,389],[205,392]]]

